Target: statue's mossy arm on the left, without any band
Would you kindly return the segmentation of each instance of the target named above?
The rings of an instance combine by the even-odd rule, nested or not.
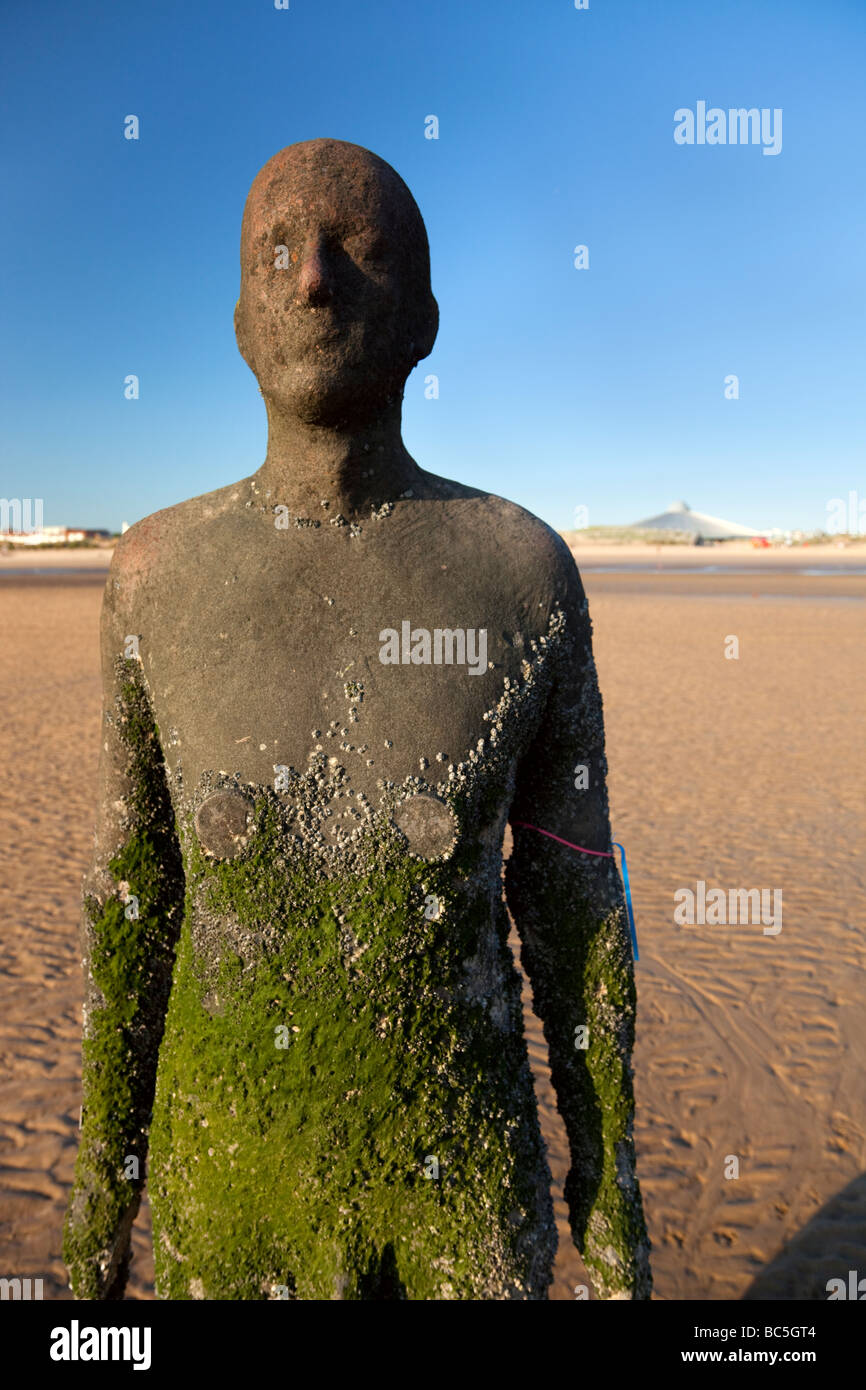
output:
[[[64,1225],[76,1298],[122,1298],[145,1186],[183,870],[158,730],[115,556],[103,598],[99,806],[81,919],[82,1125]]]

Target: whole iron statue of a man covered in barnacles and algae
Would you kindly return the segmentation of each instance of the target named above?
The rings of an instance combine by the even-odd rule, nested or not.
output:
[[[512,820],[574,1240],[646,1298],[621,888],[518,824],[610,849],[587,603],[546,525],[403,446],[438,310],[388,164],[270,160],[235,325],[265,460],[106,587],[72,1289],[122,1297],[147,1161],[163,1298],[548,1297]]]

